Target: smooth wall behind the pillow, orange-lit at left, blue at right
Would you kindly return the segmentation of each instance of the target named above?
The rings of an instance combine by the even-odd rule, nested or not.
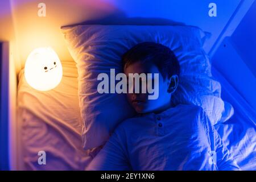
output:
[[[5,0],[6,1],[6,0]],[[32,49],[51,46],[61,60],[71,60],[60,27],[79,22],[170,24],[170,20],[199,26],[211,32],[208,51],[241,0],[10,0],[16,32],[19,69]],[[46,3],[46,17],[38,16],[38,4]],[[208,16],[210,2],[217,3],[217,17]],[[141,17],[140,19],[135,17]],[[116,20],[122,19],[122,20]],[[114,21],[116,20],[116,21]],[[130,22],[131,23],[131,22]],[[18,70],[19,70],[18,69]]]

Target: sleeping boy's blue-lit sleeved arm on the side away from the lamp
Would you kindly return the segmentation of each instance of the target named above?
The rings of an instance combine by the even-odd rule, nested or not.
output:
[[[228,148],[222,142],[222,139],[218,132],[215,130],[212,123],[210,123],[207,114],[203,114],[205,118],[205,123],[209,131],[210,145],[212,148],[213,161],[217,164],[217,168],[220,171],[236,171],[240,170],[240,167],[237,165],[236,161],[233,159]]]

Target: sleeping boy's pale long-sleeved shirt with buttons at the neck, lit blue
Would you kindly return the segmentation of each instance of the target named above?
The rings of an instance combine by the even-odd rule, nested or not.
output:
[[[123,121],[88,170],[239,170],[199,106]]]

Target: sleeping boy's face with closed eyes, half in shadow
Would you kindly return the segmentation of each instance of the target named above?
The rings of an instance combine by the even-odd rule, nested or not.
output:
[[[154,85],[153,87],[155,88],[155,86],[158,86],[159,90],[158,98],[156,100],[148,100],[148,92],[127,93],[128,101],[137,113],[158,113],[171,106],[171,93],[168,92],[170,80],[163,78],[156,65],[137,62],[126,67],[124,72],[127,77],[129,76],[129,73],[145,73],[146,75],[147,73],[152,73],[152,79],[154,79],[154,73],[158,73],[159,75],[158,84],[154,85],[154,81],[152,80]]]

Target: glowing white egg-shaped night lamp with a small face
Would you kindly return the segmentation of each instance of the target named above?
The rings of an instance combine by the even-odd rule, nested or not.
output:
[[[28,56],[25,78],[32,88],[40,91],[51,90],[59,85],[62,76],[60,59],[52,48],[37,48]]]

